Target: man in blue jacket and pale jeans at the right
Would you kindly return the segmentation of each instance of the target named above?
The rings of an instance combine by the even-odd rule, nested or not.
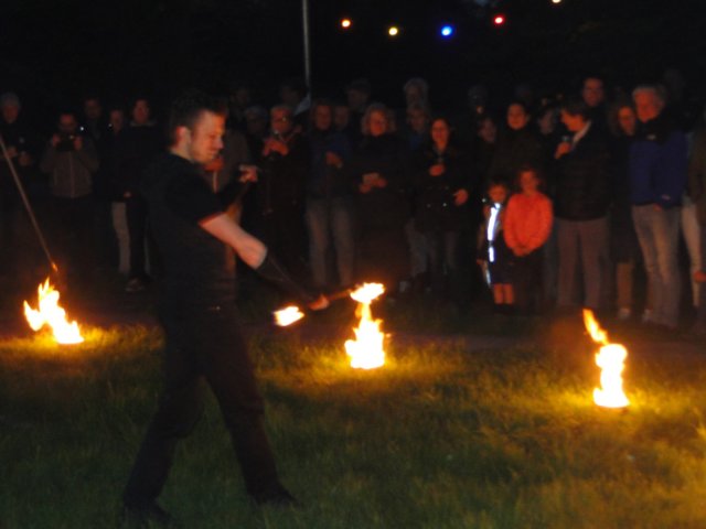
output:
[[[630,148],[630,201],[654,299],[650,322],[673,330],[681,296],[677,248],[686,137],[663,111],[662,87],[642,85],[632,94],[640,127]]]

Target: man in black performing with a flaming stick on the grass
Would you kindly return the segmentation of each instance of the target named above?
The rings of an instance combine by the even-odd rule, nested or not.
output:
[[[124,493],[130,522],[167,523],[157,504],[176,442],[203,409],[203,382],[218,401],[248,495],[257,505],[290,505],[263,427],[264,404],[235,305],[235,250],[263,277],[297,294],[310,309],[328,305],[300,289],[267,248],[224,213],[199,164],[223,148],[225,116],[197,91],[174,101],[171,147],[145,176],[154,238],[165,267],[160,317],[167,335],[165,388]]]

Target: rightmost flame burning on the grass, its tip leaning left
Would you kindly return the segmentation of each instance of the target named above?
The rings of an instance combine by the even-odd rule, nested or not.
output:
[[[600,388],[593,389],[593,402],[603,408],[624,408],[630,404],[622,390],[622,370],[628,350],[620,344],[608,342],[608,333],[600,328],[593,313],[584,310],[584,324],[593,342],[601,345],[596,354],[596,364],[600,367]]]

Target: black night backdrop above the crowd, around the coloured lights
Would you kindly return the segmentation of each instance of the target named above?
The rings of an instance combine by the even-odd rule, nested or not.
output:
[[[402,84],[421,76],[432,104],[448,106],[477,82],[509,91],[530,80],[550,93],[597,73],[629,88],[667,67],[700,91],[704,11],[703,0],[310,0],[313,91],[340,97],[366,76],[375,98],[398,105]],[[502,28],[492,24],[498,12]],[[445,20],[457,26],[449,41],[438,36]],[[394,40],[392,22],[402,29]],[[235,79],[272,102],[281,79],[303,76],[301,1],[22,0],[2,9],[0,50],[0,90],[35,111],[86,93],[163,100],[184,86],[224,91]]]

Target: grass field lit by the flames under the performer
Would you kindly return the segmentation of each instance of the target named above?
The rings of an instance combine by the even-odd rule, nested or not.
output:
[[[441,320],[392,317],[388,361],[373,371],[347,366],[349,322],[327,321],[334,331],[319,337],[258,327],[268,431],[302,507],[250,507],[213,400],[161,504],[188,528],[706,527],[703,357],[631,349],[632,406],[606,410],[592,403],[598,371],[580,322],[409,334],[448,331]],[[86,334],[63,348],[0,342],[2,529],[116,522],[156,407],[162,338],[142,326]],[[480,334],[516,342],[484,348]]]

